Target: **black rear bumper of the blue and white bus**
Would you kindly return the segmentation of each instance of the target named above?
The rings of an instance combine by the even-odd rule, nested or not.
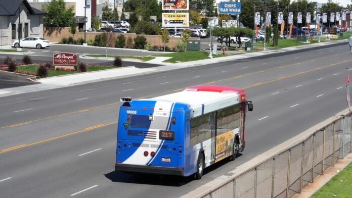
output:
[[[161,167],[161,166],[115,164],[115,171],[184,176],[183,168],[171,168],[171,167]]]

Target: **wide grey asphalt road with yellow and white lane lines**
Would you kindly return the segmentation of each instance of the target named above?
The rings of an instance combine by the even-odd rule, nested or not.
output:
[[[3,197],[179,197],[346,108],[347,43],[0,98]],[[114,172],[119,98],[244,88],[246,148],[201,180]]]

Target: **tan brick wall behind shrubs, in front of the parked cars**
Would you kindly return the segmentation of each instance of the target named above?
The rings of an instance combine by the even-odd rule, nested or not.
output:
[[[85,40],[88,39],[93,39],[97,34],[103,34],[103,32],[86,32],[85,33]],[[126,40],[128,37],[131,37],[132,39],[136,38],[136,33],[109,33],[112,34],[114,39],[119,34],[122,34],[126,37]],[[70,33],[70,28],[65,27],[65,28],[50,28],[50,27],[44,27],[44,33],[43,36],[45,39],[49,40],[50,42],[60,42],[63,37],[70,37],[72,36],[74,39],[77,39],[79,37],[84,38],[84,32],[76,32],[74,36]],[[147,38],[147,42],[151,43],[151,46],[153,45],[163,45],[161,41],[161,36],[160,35],[143,35],[144,37]],[[177,45],[177,42],[180,40],[180,38],[173,38],[170,37],[170,40],[166,45],[170,48],[175,47]],[[190,40],[199,40],[199,38],[190,38]]]

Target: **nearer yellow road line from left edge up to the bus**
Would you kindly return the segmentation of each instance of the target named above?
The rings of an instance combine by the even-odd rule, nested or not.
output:
[[[60,136],[57,136],[57,137],[52,137],[52,138],[49,138],[49,139],[45,139],[45,140],[41,140],[41,141],[29,143],[29,144],[21,144],[21,145],[18,145],[18,146],[10,147],[10,148],[8,148],[8,149],[3,149],[3,150],[1,150],[1,151],[0,151],[0,154],[1,154],[1,153],[6,153],[6,152],[9,152],[9,151],[14,151],[14,150],[17,150],[17,149],[21,149],[21,148],[23,148],[23,147],[27,147],[27,146],[36,145],[36,144],[39,144],[39,143],[44,143],[44,142],[52,141],[52,140],[59,139],[59,138],[62,138],[62,137],[67,137],[67,136],[75,135],[75,134],[82,133],[82,132],[86,132],[86,131],[89,131],[89,130],[92,130],[92,129],[97,129],[97,128],[101,128],[101,127],[104,127],[104,126],[113,125],[113,124],[117,124],[117,121],[115,121],[115,122],[110,122],[110,123],[107,123],[107,124],[99,124],[99,125],[96,125],[96,126],[87,127],[87,128],[85,128],[85,129],[83,129],[83,130],[75,131],[75,132],[68,133],[68,134],[65,134],[65,135],[60,135]]]

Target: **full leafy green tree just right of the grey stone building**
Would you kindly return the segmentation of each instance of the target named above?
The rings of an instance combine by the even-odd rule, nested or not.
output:
[[[73,7],[65,9],[64,0],[52,0],[42,5],[46,13],[43,17],[44,26],[47,27],[68,27],[74,16]]]

